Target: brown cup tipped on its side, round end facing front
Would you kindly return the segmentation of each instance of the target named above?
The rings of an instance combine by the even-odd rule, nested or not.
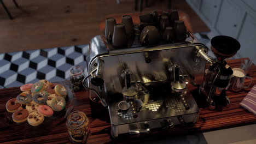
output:
[[[158,29],[155,26],[144,27],[140,37],[142,44],[157,44],[160,40]]]

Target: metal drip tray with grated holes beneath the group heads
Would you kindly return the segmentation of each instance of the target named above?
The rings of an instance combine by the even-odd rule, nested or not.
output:
[[[143,101],[142,109],[137,113],[138,117],[133,118],[131,110],[126,114],[118,112],[119,101],[109,104],[110,121],[113,125],[129,124],[143,121],[151,121],[154,119],[168,118],[174,116],[189,115],[198,113],[199,109],[192,95],[185,98],[190,109],[185,110],[181,98],[178,95],[167,95],[161,97],[159,95],[138,95],[137,99]]]

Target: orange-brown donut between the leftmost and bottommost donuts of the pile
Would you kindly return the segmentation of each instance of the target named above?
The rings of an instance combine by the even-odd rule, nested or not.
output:
[[[23,109],[22,107],[19,107],[18,111],[15,111],[13,113],[13,121],[15,123],[22,123],[27,121],[27,117],[30,113],[26,109]]]

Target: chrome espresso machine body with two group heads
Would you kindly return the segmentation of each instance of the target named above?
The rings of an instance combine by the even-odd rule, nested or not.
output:
[[[108,106],[113,137],[197,122],[199,108],[189,85],[203,82],[206,62],[196,46],[207,50],[190,41],[124,49],[113,49],[101,35],[90,41],[86,86],[90,97],[97,93]],[[136,100],[142,106],[136,107]],[[122,107],[120,101],[127,103]]]

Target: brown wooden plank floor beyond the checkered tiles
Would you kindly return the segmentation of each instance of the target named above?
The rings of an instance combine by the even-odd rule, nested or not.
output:
[[[134,0],[16,0],[22,9],[3,1],[14,20],[0,5],[0,53],[88,44],[106,15],[135,12]],[[172,8],[189,14],[194,32],[209,31],[185,0],[172,0]],[[143,11],[165,9],[167,1],[149,0]]]

